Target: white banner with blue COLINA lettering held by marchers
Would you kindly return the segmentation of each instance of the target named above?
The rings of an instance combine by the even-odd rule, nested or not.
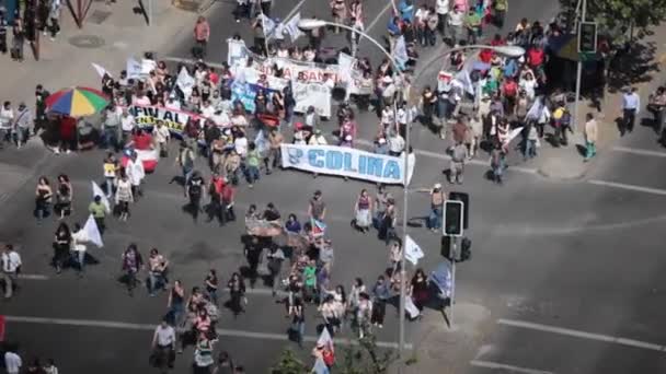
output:
[[[402,157],[346,147],[299,144],[282,144],[282,154],[283,167],[346,176],[374,183],[404,184],[404,161]]]

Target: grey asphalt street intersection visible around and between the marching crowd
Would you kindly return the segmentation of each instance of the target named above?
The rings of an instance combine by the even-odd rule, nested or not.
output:
[[[278,17],[298,11],[303,16],[329,16],[320,2],[276,2]],[[206,14],[214,40],[208,54],[216,62],[226,60],[223,40],[230,35],[238,32],[246,40],[251,38],[245,23],[238,26],[233,22],[232,8],[231,1],[217,2]],[[547,20],[554,10],[552,0],[546,4],[514,0],[507,25],[524,16]],[[371,36],[386,34],[389,12],[390,3],[366,2],[366,30]],[[191,24],[183,27],[190,30]],[[341,37],[332,39],[332,44],[341,44]],[[188,58],[191,47],[191,40],[181,35],[158,55]],[[363,50],[377,62],[380,55],[372,48],[364,45]],[[437,48],[425,51],[423,59],[445,50]],[[108,66],[122,67],[125,57]],[[436,70],[432,68],[424,77]],[[71,79],[74,83],[76,77]],[[370,139],[376,121],[372,114],[359,116],[360,138]],[[324,128],[333,130],[334,124]],[[523,164],[516,157],[510,161],[505,185],[497,187],[484,177],[486,155],[478,156],[468,166],[464,184],[453,188],[471,196],[468,235],[473,242],[472,260],[458,267],[455,326],[446,327],[437,311],[428,311],[421,323],[409,324],[407,341],[418,359],[410,370],[474,374],[666,371],[666,337],[662,332],[666,324],[659,313],[666,305],[662,269],[666,253],[661,236],[666,220],[666,176],[661,166],[666,152],[654,139],[652,129],[636,125],[633,133],[600,152],[585,177],[574,180],[546,178],[538,172],[539,160]],[[448,144],[414,126],[417,162],[409,196],[410,218],[423,217],[429,208],[427,194],[414,190],[445,183],[441,171],[448,167],[444,155]],[[172,147],[171,154],[175,154],[175,144]],[[38,148],[30,152],[0,151],[0,241],[19,246],[25,273],[20,293],[0,302],[1,313],[10,316],[8,338],[20,341],[22,351],[30,352],[26,360],[53,357],[61,373],[148,373],[151,334],[166,312],[166,293],[149,297],[141,290],[128,296],[117,282],[120,253],[129,243],[136,243],[143,256],[149,248],[159,248],[172,262],[170,278],[181,279],[187,290],[200,285],[209,268],[217,269],[226,282],[245,264],[242,222],[225,227],[204,220],[194,223],[182,211],[186,203],[182,188],[169,184],[179,170],[172,160],[162,161],[147,177],[146,196],[131,207],[130,219],[110,220],[105,247],[91,247],[100,264],[91,265],[82,280],[71,271],[57,276],[48,266],[57,222],[37,225],[32,218],[35,179],[39,175],[51,179],[60,173],[69,175],[74,187],[71,222],[83,223],[90,182],[101,179],[104,153],[55,157]],[[197,163],[206,170],[200,160]],[[386,268],[388,256],[374,232],[364,235],[349,229],[353,202],[361,188],[374,186],[280,171],[262,176],[253,189],[242,183],[237,214],[242,217],[250,203],[263,208],[274,202],[283,215],[294,212],[303,219],[308,198],[322,190],[335,247],[333,283],[348,289],[360,276],[371,284]],[[445,188],[449,188],[446,183]],[[5,189],[12,192],[3,194]],[[391,191],[402,201],[399,188]],[[443,260],[438,234],[412,227],[410,235],[426,252],[420,264],[426,271]],[[225,293],[221,299],[227,296]],[[302,357],[310,363],[309,349],[320,320],[313,306],[307,306],[307,315],[310,342]],[[266,373],[285,347],[298,350],[287,341],[288,325],[283,305],[275,303],[260,281],[249,292],[246,314],[234,319],[222,311],[217,350],[230,352],[248,373]],[[395,308],[389,308],[377,338],[383,347],[394,347]],[[173,373],[186,373],[191,362],[192,349],[177,358]]]

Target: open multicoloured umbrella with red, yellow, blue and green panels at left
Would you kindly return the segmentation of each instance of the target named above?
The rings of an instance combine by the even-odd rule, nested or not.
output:
[[[106,105],[108,97],[103,92],[88,87],[60,90],[46,98],[48,112],[70,117],[90,116]]]

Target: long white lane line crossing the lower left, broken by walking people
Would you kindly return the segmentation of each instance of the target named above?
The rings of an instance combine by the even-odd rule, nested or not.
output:
[[[99,319],[68,319],[68,318],[43,318],[43,317],[27,317],[27,316],[4,316],[8,323],[16,324],[37,324],[37,325],[60,325],[60,326],[76,326],[76,327],[99,327],[99,328],[112,328],[123,330],[146,330],[153,331],[158,325],[151,324],[130,324],[123,322],[113,320],[99,320]],[[255,332],[236,329],[216,329],[217,334],[225,337],[234,338],[248,338],[248,339],[262,339],[262,340],[277,340],[288,341],[287,334],[273,334],[273,332]],[[305,341],[314,342],[319,337],[306,336]],[[333,339],[337,344],[344,346],[356,346],[358,342],[349,339]],[[398,349],[398,343],[392,341],[378,341],[377,347]],[[411,343],[405,344],[406,349],[412,349]]]

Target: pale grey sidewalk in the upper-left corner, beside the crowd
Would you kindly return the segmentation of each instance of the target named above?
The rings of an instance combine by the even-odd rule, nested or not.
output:
[[[62,30],[56,40],[39,35],[39,61],[35,61],[27,44],[23,62],[13,61],[9,54],[0,55],[0,71],[5,72],[0,101],[11,101],[14,108],[24,102],[34,110],[37,84],[51,93],[73,85],[99,89],[101,79],[91,62],[118,74],[125,69],[128,57],[140,57],[147,50],[169,49],[170,44],[188,37],[190,25],[197,16],[175,9],[170,2],[154,1],[154,26],[149,27],[142,15],[134,13],[136,4],[118,1],[106,5],[103,1],[93,1],[81,30],[69,10],[64,9]],[[14,147],[0,150],[0,179],[4,180],[0,184],[0,201],[9,199],[24,183],[38,175],[50,162],[50,156],[38,138],[32,138],[21,150]]]

